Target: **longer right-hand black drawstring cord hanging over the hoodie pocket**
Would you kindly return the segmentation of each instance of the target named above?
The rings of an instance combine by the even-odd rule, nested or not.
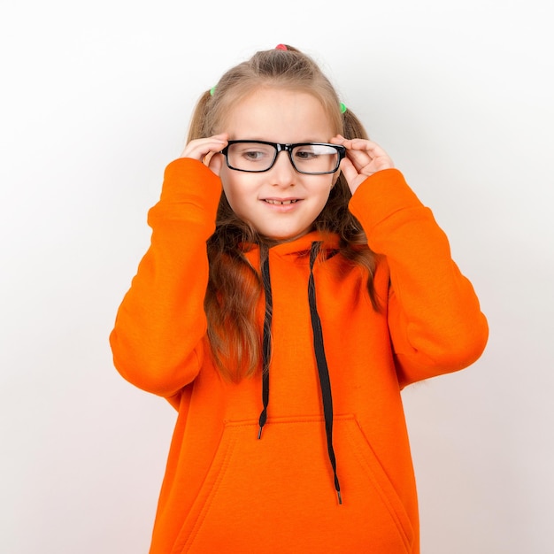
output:
[[[310,301],[310,315],[312,316],[313,329],[313,349],[318,365],[319,384],[321,386],[321,396],[323,398],[323,414],[325,416],[325,432],[327,435],[327,451],[329,461],[335,474],[335,489],[339,504],[342,504],[341,486],[336,474],[335,450],[333,449],[333,397],[331,396],[331,380],[329,378],[329,369],[327,367],[327,358],[323,346],[323,333],[321,331],[321,321],[319,319],[318,308],[315,296],[315,282],[313,280],[313,265],[318,258],[321,242],[313,242],[310,250],[310,280],[308,281],[308,299]]]

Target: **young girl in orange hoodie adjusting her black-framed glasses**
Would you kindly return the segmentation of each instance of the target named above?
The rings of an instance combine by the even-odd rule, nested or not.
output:
[[[114,363],[178,411],[150,554],[419,552],[400,391],[487,323],[432,213],[289,46],[201,98]]]

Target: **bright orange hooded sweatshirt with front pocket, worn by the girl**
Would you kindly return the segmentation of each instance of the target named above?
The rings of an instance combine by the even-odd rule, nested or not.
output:
[[[402,173],[369,177],[350,211],[382,255],[381,311],[342,256],[311,274],[312,244],[332,250],[335,236],[275,246],[269,379],[231,383],[212,363],[204,313],[220,194],[200,162],[167,166],[110,337],[119,373],[178,410],[150,554],[419,552],[400,390],[472,364],[488,336],[446,236]],[[247,257],[260,266],[257,248]]]

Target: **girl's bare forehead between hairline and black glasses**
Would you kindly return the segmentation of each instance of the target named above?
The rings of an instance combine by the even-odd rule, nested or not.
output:
[[[316,96],[283,88],[258,88],[230,106],[222,123],[232,140],[327,142],[337,133]]]

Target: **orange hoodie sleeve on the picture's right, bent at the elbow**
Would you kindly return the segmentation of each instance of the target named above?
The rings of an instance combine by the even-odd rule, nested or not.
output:
[[[400,386],[473,364],[488,340],[487,319],[446,235],[402,173],[374,173],[350,199],[350,212],[389,265],[389,332]]]

